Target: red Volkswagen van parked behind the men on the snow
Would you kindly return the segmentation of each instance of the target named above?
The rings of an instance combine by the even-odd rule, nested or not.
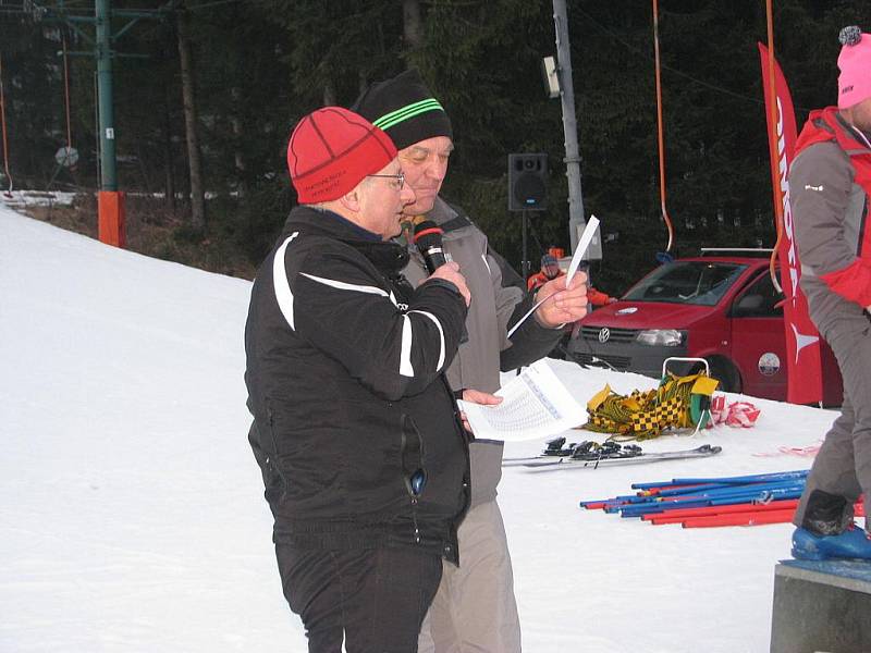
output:
[[[702,251],[660,266],[619,301],[584,318],[568,353],[585,365],[657,379],[670,356],[704,358],[722,390],[785,401],[783,295],[771,282],[769,252]],[[841,374],[824,342],[822,365],[823,403],[839,405]]]

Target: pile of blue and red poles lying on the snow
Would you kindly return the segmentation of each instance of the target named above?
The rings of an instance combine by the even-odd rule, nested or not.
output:
[[[793,520],[808,471],[633,483],[635,494],[582,501],[580,507],[684,528],[787,523]],[[855,510],[857,517],[863,515],[861,501]]]

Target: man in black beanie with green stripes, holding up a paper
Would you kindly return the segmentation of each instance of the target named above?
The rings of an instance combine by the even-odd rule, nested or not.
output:
[[[454,148],[444,108],[419,73],[410,70],[370,86],[354,110],[387,132],[396,145],[405,181],[417,197],[405,207],[408,223],[425,215],[442,229],[444,250],[459,264],[471,293],[468,340],[459,346],[447,380],[465,401],[498,404],[501,398],[491,393],[499,390],[500,370],[513,370],[545,356],[560,340],[560,328],[587,313],[586,275],[576,274],[569,288],[564,279],[541,286],[537,298],[553,298],[508,338],[508,326],[532,307],[536,296],[503,283],[487,236],[462,210],[439,196]],[[406,241],[410,262],[404,274],[418,283],[428,272],[407,230]],[[495,501],[502,447],[502,442],[484,440],[475,440],[469,446],[471,507],[459,527],[461,563],[459,567],[444,565],[439,592],[421,629],[421,652],[520,651],[511,556]]]

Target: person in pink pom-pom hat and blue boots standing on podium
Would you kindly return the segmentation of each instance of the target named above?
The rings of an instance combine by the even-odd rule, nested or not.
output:
[[[801,289],[844,379],[795,515],[793,555],[871,559],[871,34],[841,32],[837,107],[813,111],[789,171]],[[864,494],[866,529],[854,519]]]

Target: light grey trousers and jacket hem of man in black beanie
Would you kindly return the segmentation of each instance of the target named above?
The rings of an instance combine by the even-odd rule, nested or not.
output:
[[[520,623],[496,484],[501,442],[473,441],[471,508],[459,525],[459,567],[442,560],[442,580],[424,619],[419,653],[519,653]]]

